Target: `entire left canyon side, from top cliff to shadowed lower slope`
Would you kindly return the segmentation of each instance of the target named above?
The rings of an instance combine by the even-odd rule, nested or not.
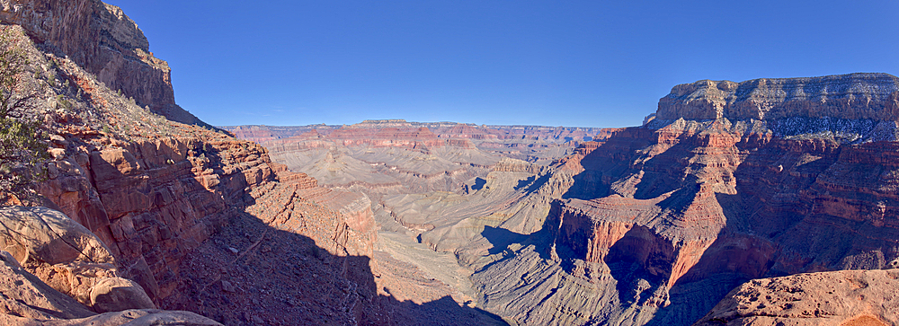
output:
[[[36,95],[24,113],[50,147],[47,180],[34,187],[42,199],[7,197],[49,209],[3,214],[4,294],[35,294],[11,297],[4,323],[501,323],[414,266],[375,260],[364,195],[319,187],[184,115],[165,62],[117,7],[14,1],[0,16],[30,62],[22,84]],[[47,235],[13,226],[60,218]],[[135,295],[145,300],[101,308]]]

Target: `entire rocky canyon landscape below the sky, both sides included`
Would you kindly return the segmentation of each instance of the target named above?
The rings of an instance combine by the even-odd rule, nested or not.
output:
[[[631,128],[212,127],[120,8],[0,4],[49,144],[0,323],[899,324],[893,75],[680,84]]]

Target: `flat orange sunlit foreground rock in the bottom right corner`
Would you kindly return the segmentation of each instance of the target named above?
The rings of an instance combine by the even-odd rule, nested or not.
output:
[[[899,269],[762,278],[738,286],[694,325],[899,324]]]

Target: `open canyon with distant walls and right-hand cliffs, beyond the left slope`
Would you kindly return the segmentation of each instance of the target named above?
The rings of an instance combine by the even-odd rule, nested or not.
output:
[[[455,257],[461,272],[441,277],[470,279],[447,283],[507,322],[690,324],[752,279],[897,267],[897,94],[886,74],[699,81],[675,86],[641,127],[515,137],[565,146],[542,153],[472,136],[504,126],[227,129],[325,187],[364,193],[381,246]],[[865,318],[895,322],[883,312]],[[823,314],[781,318],[862,313]]]

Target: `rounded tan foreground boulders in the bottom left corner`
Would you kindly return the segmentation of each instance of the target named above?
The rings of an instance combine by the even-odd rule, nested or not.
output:
[[[0,251],[0,322],[4,325],[220,325],[195,313],[156,310],[137,284],[92,269],[85,260],[97,259],[102,243],[58,212],[4,207],[0,216],[5,248],[26,255],[22,268],[12,254]],[[105,257],[111,259],[108,253]],[[60,286],[58,277],[45,274],[44,279],[55,282],[49,286],[26,270],[47,271],[41,263],[48,260],[64,260],[53,268],[68,278],[63,283],[74,283]],[[101,270],[114,272],[108,266]],[[91,309],[75,300],[85,286],[90,286]],[[70,293],[58,292],[60,287]]]

